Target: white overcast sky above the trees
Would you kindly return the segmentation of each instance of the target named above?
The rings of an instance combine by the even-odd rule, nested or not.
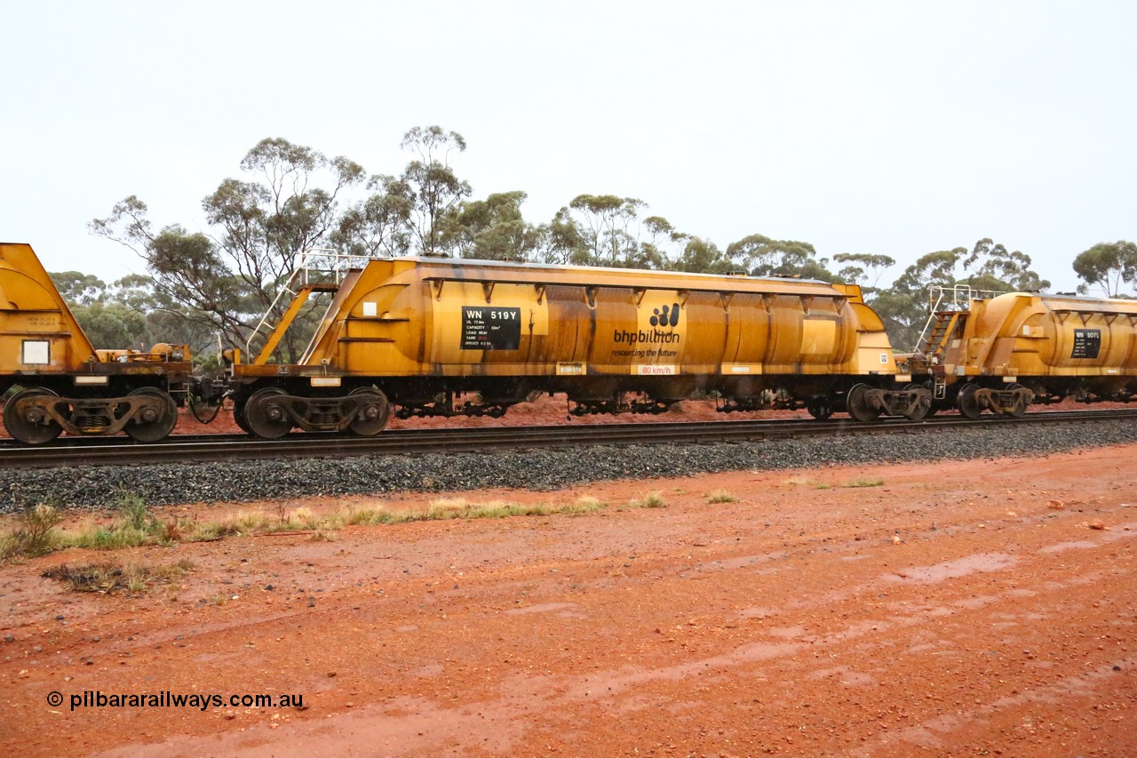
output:
[[[588,192],[723,248],[907,265],[990,237],[1054,289],[1137,239],[1131,0],[0,0],[0,240],[49,271],[142,273],[86,223],[138,195],[204,229],[263,138],[397,174],[430,124],[534,223]]]

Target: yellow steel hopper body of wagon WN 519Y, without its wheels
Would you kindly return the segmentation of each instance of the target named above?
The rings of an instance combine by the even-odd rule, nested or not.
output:
[[[896,371],[853,286],[438,258],[352,271],[299,364],[368,377]]]

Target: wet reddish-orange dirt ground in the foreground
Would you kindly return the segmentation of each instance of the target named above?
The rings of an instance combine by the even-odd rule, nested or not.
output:
[[[1135,755],[1135,455],[463,493],[608,505],[9,562],[0,753]],[[41,576],[127,558],[194,569],[134,596]],[[304,707],[227,702],[254,693]]]

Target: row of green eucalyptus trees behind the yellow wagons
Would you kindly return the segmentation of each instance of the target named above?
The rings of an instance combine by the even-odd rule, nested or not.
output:
[[[613,193],[581,193],[543,223],[526,220],[522,190],[474,197],[456,162],[466,150],[462,134],[441,126],[415,126],[400,146],[410,154],[401,172],[368,174],[343,157],[329,158],[285,139],[264,139],[241,159],[238,178],[222,180],[201,200],[207,228],[188,231],[171,223],[155,229],[135,196],[110,215],[91,222],[93,233],[138,253],[148,277],[107,287],[82,272],[52,274],[78,307],[84,326],[106,339],[140,341],[157,328],[184,336],[196,349],[254,345],[260,318],[274,323],[288,306],[283,291],[301,256],[358,257],[407,254],[495,261],[639,267],[754,277],[795,277],[860,283],[877,308],[894,346],[914,345],[927,319],[930,286],[978,290],[1039,290],[1049,286],[1030,256],[985,238],[919,256],[889,286],[896,266],[871,252],[822,257],[807,241],[752,233],[721,249],[649,212],[646,201]],[[1099,244],[1077,256],[1081,291],[1122,295],[1137,286],[1137,246]],[[314,299],[298,329],[279,348],[299,357],[322,303]],[[84,310],[85,308],[85,310]],[[143,314],[142,321],[123,310]],[[100,326],[101,324],[101,326]],[[165,337],[164,339],[169,339]]]

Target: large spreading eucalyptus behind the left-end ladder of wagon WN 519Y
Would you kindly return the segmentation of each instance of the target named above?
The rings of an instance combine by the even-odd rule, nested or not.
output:
[[[155,230],[135,196],[90,223],[93,233],[142,257],[159,302],[207,321],[233,344],[252,336],[266,311],[279,320],[288,306],[279,296],[301,254],[332,244],[342,226],[341,195],[365,178],[348,158],[283,139],[262,140],[240,166],[249,179],[225,179],[201,201],[209,233],[180,224]],[[300,328],[282,343],[287,360],[299,357],[316,307],[300,314]]]

